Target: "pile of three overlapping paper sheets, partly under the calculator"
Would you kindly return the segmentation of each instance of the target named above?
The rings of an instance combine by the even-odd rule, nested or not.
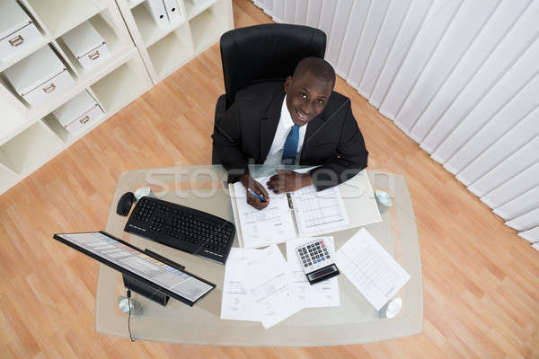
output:
[[[314,238],[288,241],[288,262],[275,244],[265,250],[233,248],[225,266],[221,319],[261,321],[271,328],[303,308],[339,306],[336,277],[307,282],[295,250],[309,241]],[[324,241],[332,253],[333,238]]]

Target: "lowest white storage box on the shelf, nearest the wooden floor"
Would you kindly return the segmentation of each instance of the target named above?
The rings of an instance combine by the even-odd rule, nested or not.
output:
[[[71,135],[76,136],[96,118],[101,118],[103,111],[93,100],[92,95],[84,91],[60,106],[52,114]]]

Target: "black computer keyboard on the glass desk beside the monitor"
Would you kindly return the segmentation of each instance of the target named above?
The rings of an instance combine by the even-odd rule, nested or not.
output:
[[[140,198],[124,231],[223,264],[235,234],[233,223],[154,197]]]

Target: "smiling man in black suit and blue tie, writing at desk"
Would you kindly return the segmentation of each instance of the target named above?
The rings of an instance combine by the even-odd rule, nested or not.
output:
[[[214,147],[230,180],[241,180],[249,189],[251,206],[265,208],[269,197],[252,179],[249,163],[317,166],[306,173],[277,171],[267,183],[275,193],[310,184],[318,190],[329,188],[367,167],[367,149],[349,98],[333,92],[334,85],[331,65],[323,58],[306,57],[284,86],[257,83],[238,92],[218,120]]]

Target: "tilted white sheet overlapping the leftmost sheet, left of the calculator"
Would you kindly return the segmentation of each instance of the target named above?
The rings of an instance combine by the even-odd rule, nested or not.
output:
[[[264,328],[302,309],[290,293],[290,272],[277,245],[265,250],[260,258],[248,262],[245,289],[260,312]]]

